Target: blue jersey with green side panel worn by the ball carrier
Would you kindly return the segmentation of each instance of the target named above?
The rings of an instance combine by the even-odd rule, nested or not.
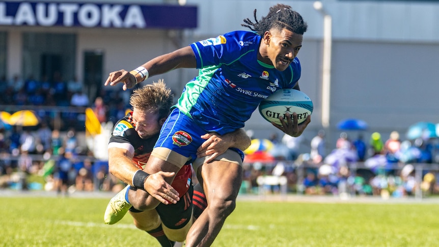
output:
[[[206,131],[244,127],[263,99],[300,78],[297,58],[284,71],[258,61],[261,40],[255,32],[235,31],[191,44],[199,75],[186,84],[176,107]]]

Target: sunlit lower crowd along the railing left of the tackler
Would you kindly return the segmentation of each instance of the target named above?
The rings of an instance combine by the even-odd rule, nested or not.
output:
[[[108,174],[108,162],[81,145],[76,131],[46,125],[37,131],[0,131],[0,188],[57,191],[109,191],[123,184]],[[117,186],[115,188],[115,186]]]

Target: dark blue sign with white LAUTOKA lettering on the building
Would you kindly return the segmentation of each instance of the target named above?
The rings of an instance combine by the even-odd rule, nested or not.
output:
[[[197,27],[197,7],[64,2],[0,2],[0,25],[186,29]]]

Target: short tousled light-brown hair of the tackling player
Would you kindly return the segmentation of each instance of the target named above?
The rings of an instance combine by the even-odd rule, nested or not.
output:
[[[158,119],[166,118],[171,112],[174,103],[174,95],[171,89],[167,88],[163,80],[157,83],[146,85],[143,88],[133,91],[129,103],[132,107],[141,111],[158,111]]]

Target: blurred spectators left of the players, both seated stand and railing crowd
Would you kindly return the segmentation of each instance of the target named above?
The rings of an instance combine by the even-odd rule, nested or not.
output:
[[[100,90],[90,96],[77,78],[63,80],[59,73],[40,80],[3,77],[0,91],[0,105],[6,106],[2,111],[10,106],[42,106],[35,111],[37,126],[0,121],[1,188],[46,189],[68,195],[74,190],[111,190],[120,183],[108,175],[107,162],[97,160],[87,148],[84,109],[91,107],[101,123],[115,122],[129,108],[130,91]],[[63,112],[66,106],[69,111]],[[51,107],[60,108],[60,128],[54,126]],[[77,111],[71,111],[75,107]]]

